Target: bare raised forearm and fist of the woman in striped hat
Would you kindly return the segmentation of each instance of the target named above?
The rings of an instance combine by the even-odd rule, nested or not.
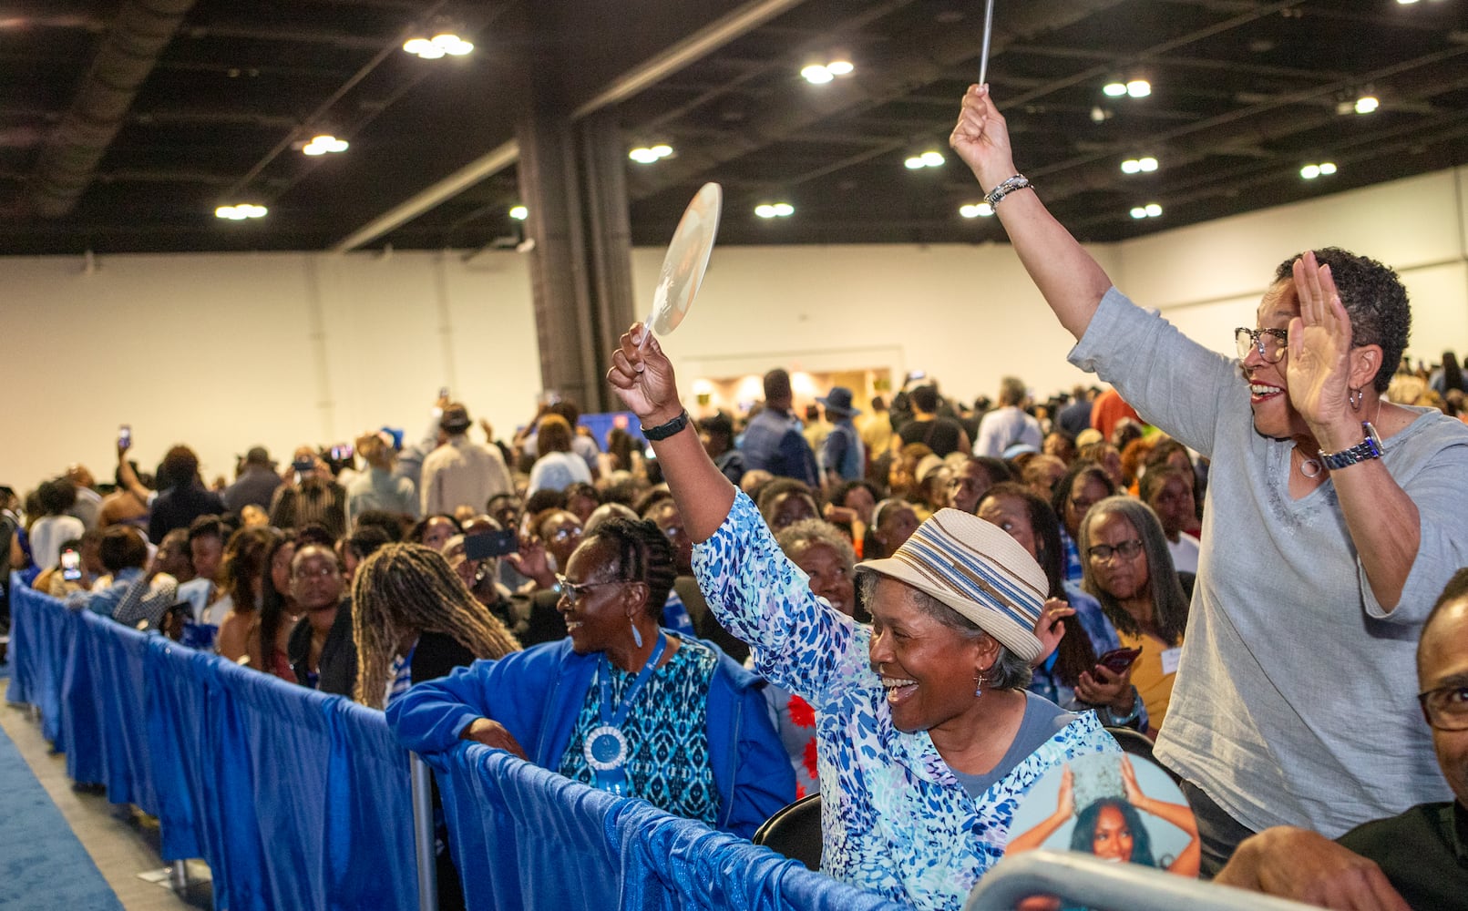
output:
[[[650,430],[684,415],[684,411],[678,402],[672,364],[662,354],[658,339],[652,337],[646,348],[637,348],[644,332],[646,327],[637,323],[622,333],[606,380],[637,415],[643,428]],[[690,418],[684,417],[683,427],[672,436],[649,442],[658,453],[668,490],[678,502],[684,527],[694,543],[708,540],[728,518],[730,506],[734,505],[734,486],[713,467]]]

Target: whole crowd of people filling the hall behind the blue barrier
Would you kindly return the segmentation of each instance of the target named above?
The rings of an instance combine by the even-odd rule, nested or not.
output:
[[[962,905],[1019,800],[1117,753],[1108,728],[1180,779],[1205,876],[1461,907],[1456,358],[1398,370],[1405,290],[1339,249],[1286,260],[1239,358],[1213,354],[1050,217],[985,89],[951,144],[1108,389],[1036,402],[1004,377],[967,408],[909,377],[797,414],[777,368],[755,414],[694,420],[633,327],[609,381],[646,442],[565,400],[477,442],[442,398],[418,440],[285,468],[257,446],[206,484],[189,447],[144,472],[123,440],[106,494],[82,467],[0,489],[7,566],[385,709],[424,754],[479,741],[743,836],[819,792],[822,870],[919,908]]]

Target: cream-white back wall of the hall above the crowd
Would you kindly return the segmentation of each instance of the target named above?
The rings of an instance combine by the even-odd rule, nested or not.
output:
[[[1138,302],[1232,349],[1274,266],[1334,244],[1396,267],[1414,356],[1468,352],[1468,169],[1163,232],[1092,252]],[[740,217],[730,213],[727,217]],[[661,249],[634,251],[652,301]],[[117,422],[156,464],[191,443],[206,474],[263,443],[418,433],[440,384],[502,431],[540,374],[526,258],[458,254],[0,258],[0,483],[31,487],[70,461],[110,471]],[[608,343],[611,340],[608,339]],[[1013,252],[981,246],[719,248],[696,310],[668,339],[684,389],[774,365],[925,368],[972,398],[1017,374],[1070,386],[1061,330]]]

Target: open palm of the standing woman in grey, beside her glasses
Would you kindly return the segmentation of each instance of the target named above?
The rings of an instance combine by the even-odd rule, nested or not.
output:
[[[1295,260],[1295,293],[1299,315],[1289,324],[1289,362],[1284,365],[1290,405],[1312,431],[1342,425],[1355,442],[1361,436],[1361,418],[1352,417],[1348,400],[1351,315],[1340,304],[1330,267],[1318,266],[1314,252]]]

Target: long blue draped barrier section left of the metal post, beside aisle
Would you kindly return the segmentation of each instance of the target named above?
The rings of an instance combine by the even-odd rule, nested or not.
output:
[[[204,858],[214,905],[413,908],[408,754],[380,711],[12,591],[7,698],[41,710],[78,782]]]

